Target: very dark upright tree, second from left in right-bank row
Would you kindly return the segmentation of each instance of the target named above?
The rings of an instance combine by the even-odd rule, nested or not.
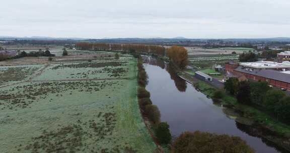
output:
[[[237,101],[241,104],[251,103],[251,90],[248,81],[242,81],[239,83],[239,89],[236,98]]]

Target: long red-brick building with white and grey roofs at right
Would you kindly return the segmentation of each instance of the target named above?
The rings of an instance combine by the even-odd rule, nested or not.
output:
[[[244,75],[248,80],[265,81],[269,85],[290,90],[290,62],[272,61],[226,63],[228,75]]]

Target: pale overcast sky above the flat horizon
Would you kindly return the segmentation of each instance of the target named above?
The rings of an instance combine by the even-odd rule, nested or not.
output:
[[[3,0],[0,36],[290,37],[290,0]]]

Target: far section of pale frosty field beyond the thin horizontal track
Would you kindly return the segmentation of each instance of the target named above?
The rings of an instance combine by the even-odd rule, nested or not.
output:
[[[51,64],[34,81],[117,79],[135,77],[134,60],[106,60],[80,63]]]

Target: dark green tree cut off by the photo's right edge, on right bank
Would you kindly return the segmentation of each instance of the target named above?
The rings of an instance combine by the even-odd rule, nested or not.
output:
[[[279,100],[278,106],[275,108],[277,119],[290,124],[290,97],[286,96]]]

